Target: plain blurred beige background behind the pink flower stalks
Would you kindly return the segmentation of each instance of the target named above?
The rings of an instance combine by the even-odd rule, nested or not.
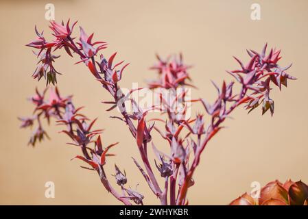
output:
[[[261,21],[250,20],[254,2],[261,4]],[[194,90],[193,96],[212,100],[215,90],[209,80],[230,80],[224,70],[237,68],[232,55],[246,61],[245,49],[261,50],[265,42],[282,49],[281,63],[294,63],[290,73],[298,81],[289,83],[281,93],[273,92],[273,118],[261,116],[260,110],[249,116],[242,109],[233,114],[235,120],[226,123],[229,129],[221,131],[204,152],[189,201],[224,205],[249,191],[252,181],[265,185],[290,177],[308,182],[308,1],[0,1],[1,204],[119,203],[104,190],[95,173],[79,168],[81,162],[70,161],[80,151],[65,144],[69,140],[57,133],[59,127],[50,127],[52,141],[35,149],[26,145],[30,131],[19,129],[16,117],[32,112],[25,99],[36,86],[45,86],[30,77],[36,58],[24,45],[34,38],[35,24],[50,32],[44,19],[46,3],[55,4],[57,21],[78,20],[88,33],[95,31],[95,39],[109,42],[107,55],[118,51],[118,59],[131,63],[123,87],[134,81],[144,86],[145,79],[154,77],[148,70],[154,53],[182,51],[186,62],[194,65],[191,76],[199,90]],[[138,190],[150,194],[130,159],[138,157],[134,140],[120,121],[108,118],[112,113],[99,103],[109,100],[108,94],[84,66],[74,66],[75,61],[65,55],[56,63],[64,73],[58,77],[60,91],[74,94],[75,104],[86,105],[84,112],[91,118],[99,116],[97,125],[106,128],[105,145],[121,142],[114,150],[117,157],[108,161],[108,174],[117,162],[126,168],[132,187],[140,182]],[[154,139],[163,146],[156,134]],[[56,183],[56,198],[45,198],[46,181]],[[150,194],[145,203],[158,201]]]

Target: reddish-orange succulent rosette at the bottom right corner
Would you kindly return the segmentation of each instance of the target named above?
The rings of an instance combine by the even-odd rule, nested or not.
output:
[[[308,185],[290,179],[285,183],[271,181],[261,188],[259,198],[252,198],[246,192],[230,205],[308,205]]]

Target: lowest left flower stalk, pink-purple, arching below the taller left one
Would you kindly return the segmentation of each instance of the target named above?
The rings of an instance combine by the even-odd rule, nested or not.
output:
[[[117,143],[110,144],[103,149],[100,138],[102,129],[93,130],[93,125],[96,119],[87,123],[86,121],[88,121],[88,118],[84,116],[84,114],[80,114],[82,107],[75,109],[71,99],[72,96],[62,98],[58,92],[58,88],[49,88],[48,90],[50,93],[48,100],[45,100],[45,95],[41,96],[40,92],[36,90],[36,96],[39,96],[42,103],[38,105],[36,101],[33,102],[34,105],[36,105],[36,110],[34,111],[34,116],[32,118],[20,118],[22,121],[21,127],[31,127],[34,124],[37,125],[36,131],[34,131],[34,134],[29,140],[29,144],[35,146],[36,142],[40,142],[45,136],[49,138],[47,132],[43,129],[40,120],[43,118],[42,116],[46,114],[49,115],[48,119],[54,118],[59,125],[65,125],[66,127],[66,129],[60,132],[66,133],[67,136],[73,140],[73,143],[67,144],[73,144],[80,147],[82,155],[78,155],[74,158],[82,159],[82,161],[91,166],[91,168],[84,166],[82,166],[82,168],[96,170],[106,190],[115,196],[115,198],[119,199],[119,201],[126,205],[130,205],[130,202],[128,201],[129,197],[122,197],[122,195],[112,187],[104,170],[106,157],[112,156],[108,151]],[[44,94],[46,91],[47,89],[44,91]],[[94,145],[93,149],[91,149],[90,144]]]

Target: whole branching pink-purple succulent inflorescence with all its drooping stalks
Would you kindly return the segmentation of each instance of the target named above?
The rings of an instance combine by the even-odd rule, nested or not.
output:
[[[213,83],[217,89],[217,98],[213,104],[210,104],[205,99],[187,100],[185,98],[187,90],[174,92],[178,88],[192,86],[188,82],[191,80],[187,72],[190,66],[183,63],[182,55],[180,57],[169,57],[167,60],[158,57],[158,64],[152,67],[158,72],[158,79],[151,81],[149,88],[163,88],[173,95],[171,95],[171,99],[166,99],[163,91],[159,91],[160,105],[158,110],[163,112],[166,117],[165,119],[147,119],[148,112],[156,110],[157,105],[144,109],[132,98],[132,93],[139,92],[140,88],[132,89],[128,94],[124,94],[119,87],[123,70],[128,64],[123,64],[123,62],[115,64],[114,60],[117,53],[114,53],[108,59],[99,54],[106,49],[106,42],[93,42],[93,34],[88,36],[82,27],[80,27],[79,40],[73,38],[71,35],[74,26],[75,23],[71,26],[69,21],[66,25],[51,21],[50,28],[54,31],[55,37],[51,42],[45,40],[43,33],[39,33],[36,29],[38,38],[27,44],[29,47],[38,49],[36,55],[39,62],[32,76],[38,81],[44,77],[47,85],[49,83],[55,85],[56,77],[60,73],[54,68],[54,62],[59,57],[54,55],[54,52],[64,48],[71,57],[77,55],[80,59],[77,63],[84,63],[95,79],[110,93],[112,99],[103,103],[110,105],[108,111],[115,108],[119,109],[121,116],[110,117],[119,118],[128,126],[130,133],[136,140],[143,165],[139,164],[137,159],[134,158],[133,162],[162,205],[188,204],[187,191],[194,184],[193,174],[200,162],[202,151],[211,138],[223,128],[224,120],[235,108],[245,104],[246,109],[250,112],[262,105],[262,114],[265,114],[268,110],[273,114],[274,101],[270,98],[272,86],[278,86],[281,89],[282,85],[287,86],[287,79],[295,79],[285,72],[291,65],[287,67],[279,66],[281,51],[270,49],[270,52],[266,53],[267,44],[265,44],[261,53],[252,50],[247,51],[250,56],[247,65],[244,65],[235,57],[240,68],[228,71],[235,78],[235,81],[230,83],[223,81],[221,86]],[[239,83],[241,88],[239,92],[233,91],[235,90],[233,89],[235,82]],[[50,93],[49,100],[45,99],[47,89]],[[115,179],[117,185],[121,188],[121,192],[117,192],[112,187],[106,175],[104,170],[106,158],[112,155],[108,153],[109,149],[117,143],[110,144],[103,149],[100,137],[102,129],[93,129],[95,120],[91,121],[80,114],[82,107],[74,107],[72,96],[63,98],[57,88],[47,89],[43,93],[36,90],[36,95],[32,97],[31,101],[36,107],[34,115],[29,118],[20,118],[22,120],[21,127],[30,127],[34,123],[38,124],[29,144],[34,146],[37,141],[43,140],[45,136],[48,138],[40,120],[47,119],[49,122],[50,118],[55,118],[58,124],[66,127],[62,132],[73,140],[73,143],[69,144],[80,147],[82,155],[75,158],[82,159],[89,165],[83,168],[96,171],[106,190],[125,205],[143,204],[142,194],[131,188],[126,188],[126,173],[123,173],[120,168],[115,166]],[[207,116],[203,114],[197,114],[196,118],[187,116],[187,103],[196,102],[201,103]],[[128,104],[130,104],[132,112],[128,110]],[[206,124],[204,118],[209,118],[209,123]],[[156,120],[165,124],[165,130],[155,125]],[[163,153],[156,148],[151,135],[153,129],[158,131],[169,144],[169,153]],[[163,186],[159,185],[154,173],[156,171],[154,165],[148,158],[148,144],[152,144],[152,149],[157,157],[154,165],[159,175],[165,179]]]

